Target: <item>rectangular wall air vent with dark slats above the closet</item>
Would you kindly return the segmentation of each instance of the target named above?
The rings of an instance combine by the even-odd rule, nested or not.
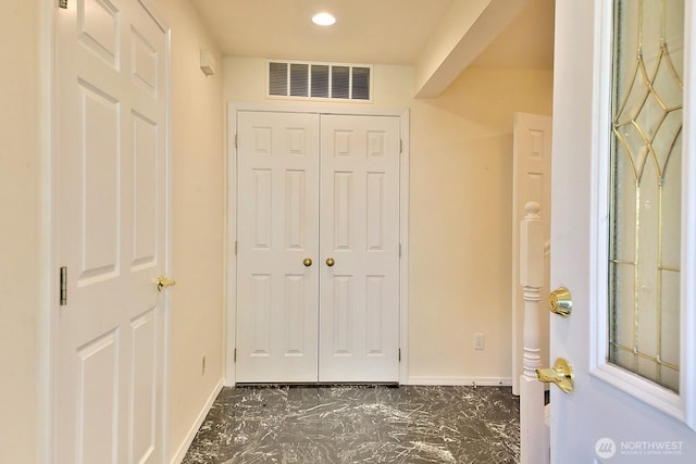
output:
[[[269,97],[372,101],[372,66],[269,61]]]

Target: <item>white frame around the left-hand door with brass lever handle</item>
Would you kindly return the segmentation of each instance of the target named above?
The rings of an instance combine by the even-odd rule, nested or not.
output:
[[[165,95],[165,105],[166,105],[166,118],[165,118],[165,147],[164,147],[164,156],[165,156],[165,201],[166,201],[166,211],[164,212],[165,218],[165,233],[164,233],[164,249],[165,256],[164,263],[162,263],[162,267],[167,275],[171,275],[172,271],[172,163],[171,163],[171,147],[172,147],[172,133],[171,133],[171,109],[172,109],[172,78],[171,78],[171,63],[172,63],[172,29],[169,26],[169,23],[164,20],[164,16],[160,14],[157,9],[157,5],[152,0],[137,0],[142,8],[150,14],[152,20],[158,24],[158,26],[165,34],[165,42],[166,42],[166,51],[164,55],[165,60],[165,68],[166,73],[164,76],[164,95]],[[44,27],[44,33],[41,34],[41,51],[40,59],[42,63],[42,67],[47,70],[44,73],[44,77],[41,77],[40,86],[45,91],[45,95],[41,96],[41,108],[45,110],[42,112],[44,120],[41,121],[41,134],[45,135],[44,142],[41,142],[41,160],[42,163],[42,177],[46,179],[45,188],[41,190],[41,224],[46,225],[45,231],[46,234],[42,239],[42,244],[45,247],[46,252],[44,255],[46,256],[42,261],[47,264],[46,269],[42,271],[41,283],[44,283],[42,294],[46,298],[41,300],[42,306],[45,308],[46,313],[41,314],[41,327],[40,335],[41,338],[46,341],[41,343],[40,347],[40,374],[39,378],[42,381],[42,387],[40,388],[41,397],[44,399],[44,403],[39,405],[39,413],[41,414],[40,421],[40,446],[41,450],[39,451],[39,459],[41,462],[53,463],[54,462],[54,448],[55,443],[53,442],[54,429],[59,427],[60,424],[54,423],[54,414],[55,414],[55,403],[58,402],[58,398],[55,397],[55,377],[59,375],[57,372],[57,353],[59,350],[57,349],[58,337],[55,336],[55,330],[58,328],[58,315],[59,315],[59,287],[60,287],[60,277],[58,269],[60,268],[60,263],[58,261],[58,222],[57,222],[57,185],[58,185],[58,175],[59,170],[55,163],[57,153],[58,153],[58,140],[55,137],[55,127],[58,125],[58,108],[55,103],[55,93],[58,92],[58,83],[53,77],[57,75],[57,66],[55,62],[55,45],[58,43],[57,37],[57,27],[55,27],[55,14],[60,14],[58,2],[41,2],[39,7],[39,13],[41,16],[41,25]],[[160,421],[162,423],[162,449],[160,450],[160,455],[162,459],[162,463],[167,460],[169,452],[169,419],[170,419],[170,406],[169,406],[169,396],[170,396],[170,335],[171,335],[171,317],[170,317],[170,306],[171,306],[171,292],[164,292],[163,297],[163,315],[164,315],[164,340],[163,340],[163,378],[162,378],[162,399],[161,405],[162,410],[160,411]]]

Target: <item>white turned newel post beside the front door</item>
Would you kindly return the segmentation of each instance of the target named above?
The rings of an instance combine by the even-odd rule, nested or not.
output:
[[[523,373],[520,376],[520,457],[522,464],[549,462],[544,424],[544,384],[536,379],[539,356],[539,289],[544,285],[544,223],[539,204],[524,205],[520,224],[520,285],[524,289]]]

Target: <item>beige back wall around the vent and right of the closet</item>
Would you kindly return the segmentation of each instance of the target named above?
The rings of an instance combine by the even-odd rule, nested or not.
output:
[[[225,98],[273,103],[264,63],[225,59]],[[509,381],[512,121],[550,114],[551,72],[469,70],[427,100],[412,98],[409,66],[377,65],[374,79],[373,104],[343,106],[410,110],[410,381]]]

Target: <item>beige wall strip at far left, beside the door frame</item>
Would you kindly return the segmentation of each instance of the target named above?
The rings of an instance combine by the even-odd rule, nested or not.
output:
[[[46,289],[39,0],[0,9],[0,462],[42,461]]]

